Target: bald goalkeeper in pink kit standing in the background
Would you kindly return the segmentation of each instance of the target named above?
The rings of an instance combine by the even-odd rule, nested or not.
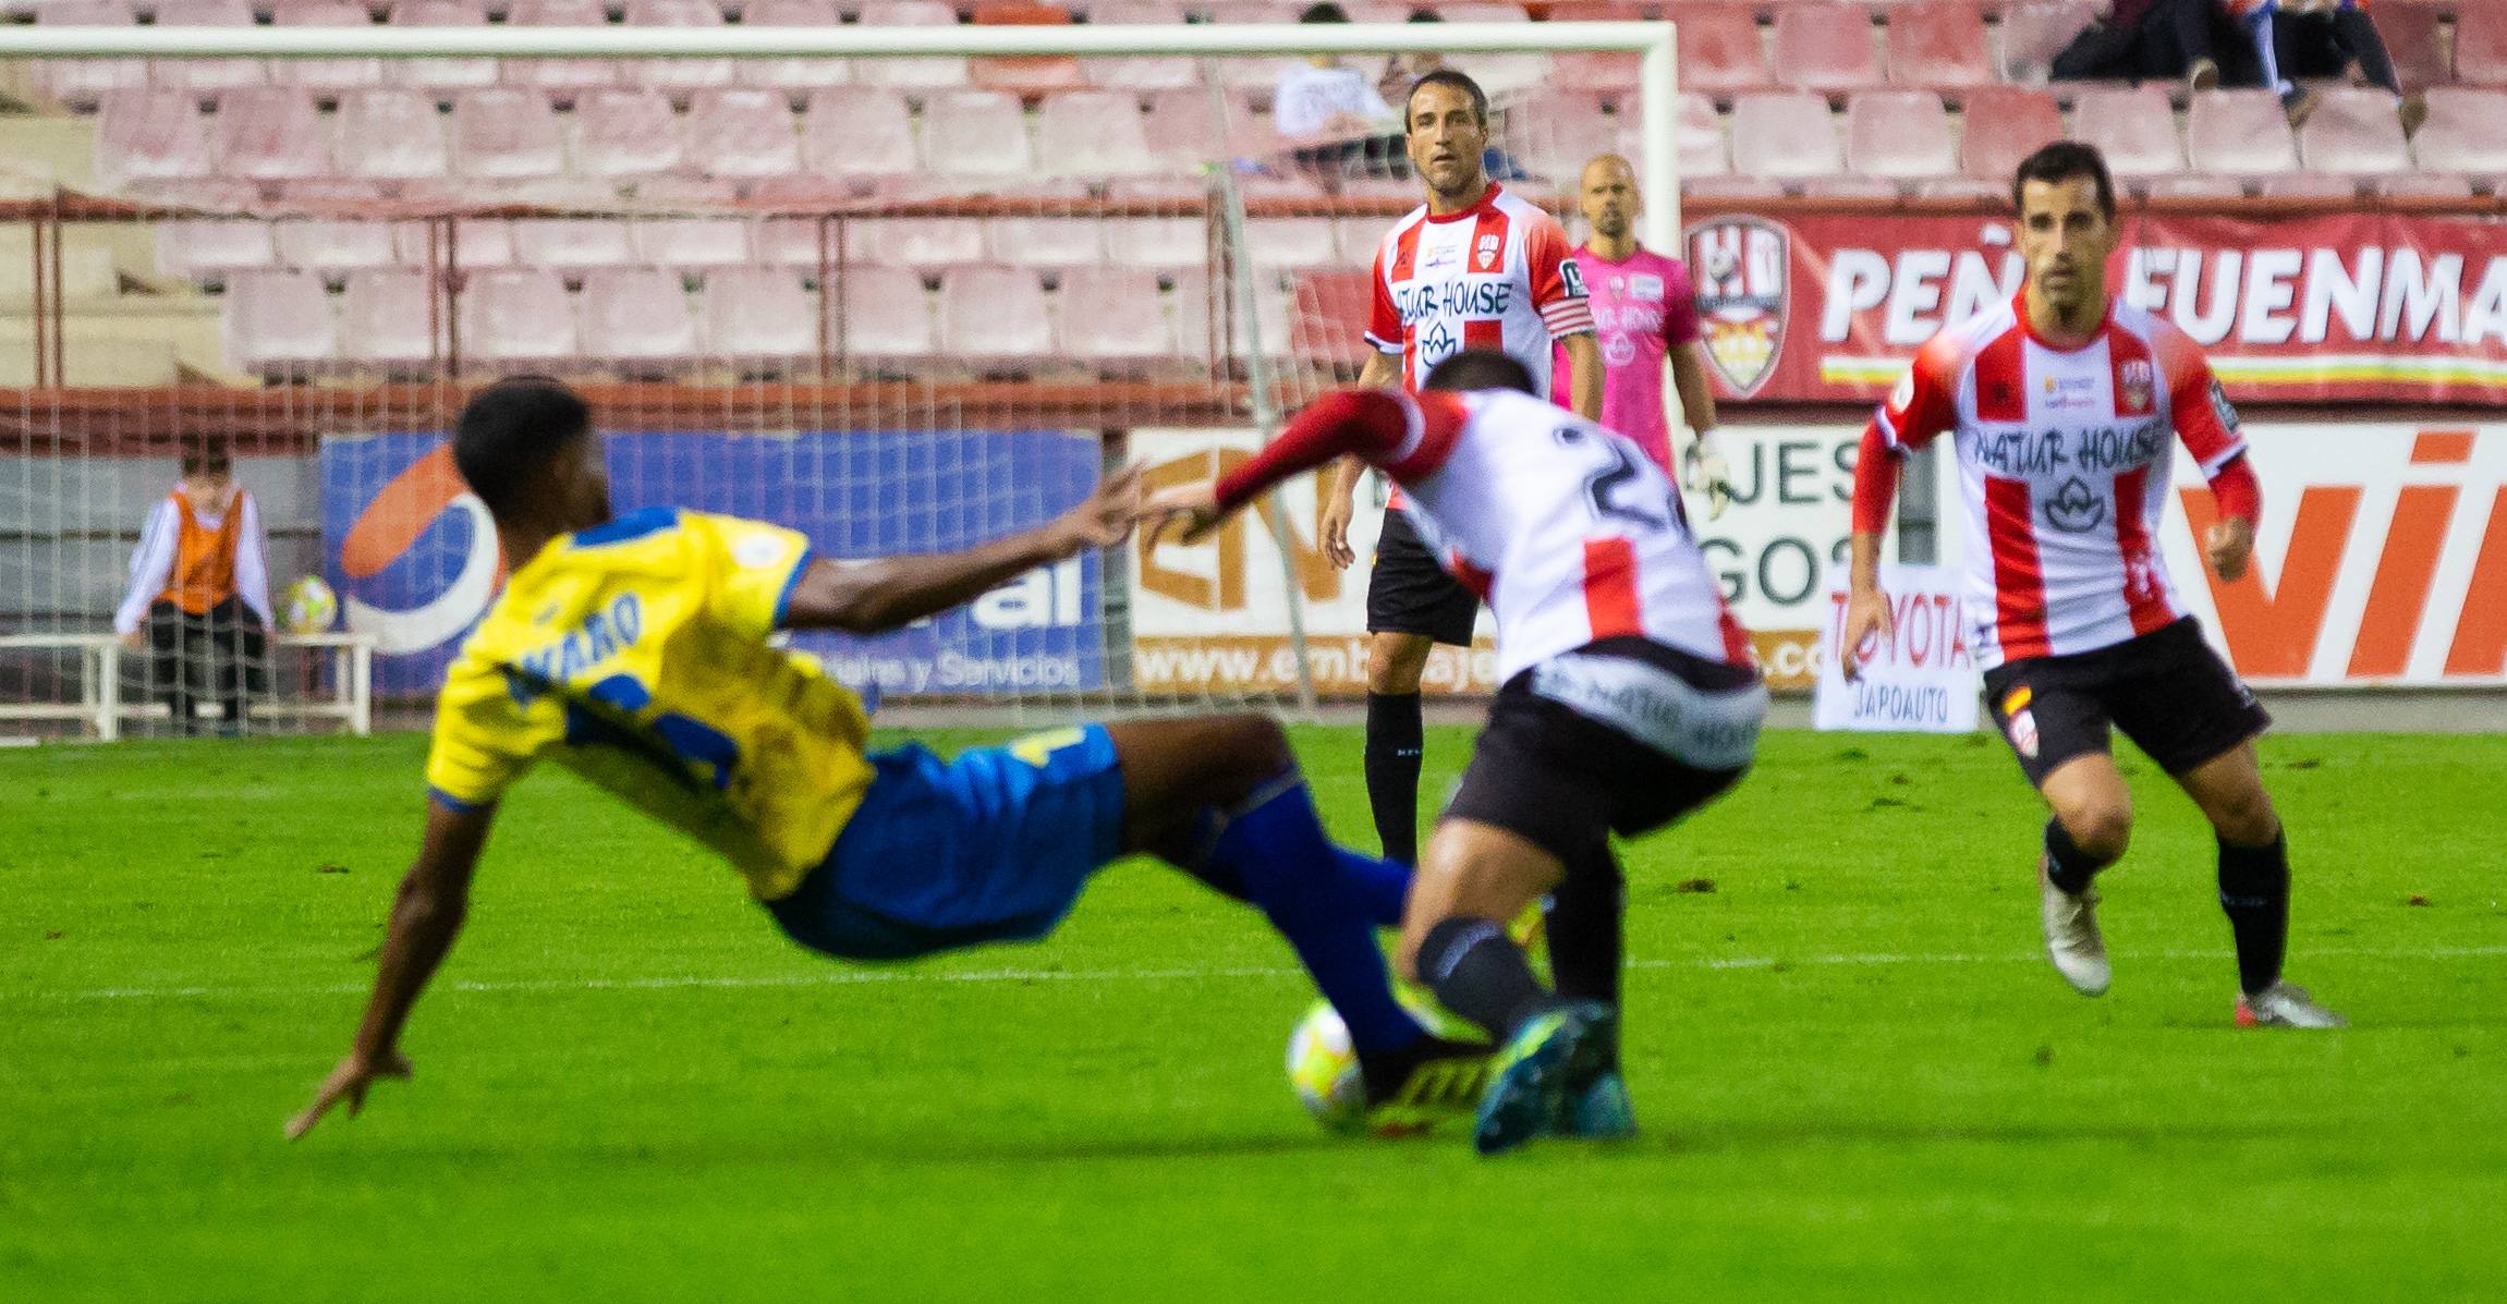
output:
[[[1594,155],[1577,181],[1577,206],[1592,238],[1574,251],[1592,326],[1602,341],[1602,424],[1635,439],[1672,479],[1707,497],[1707,519],[1732,502],[1732,466],[1715,446],[1715,386],[1697,354],[1697,288],[1680,258],[1637,243],[1637,171],[1615,153]],[[1564,346],[1562,346],[1564,351]],[[1672,411],[1662,401],[1662,364],[1672,364],[1680,414],[1695,439],[1672,464]],[[1554,399],[1567,401],[1559,384]]]

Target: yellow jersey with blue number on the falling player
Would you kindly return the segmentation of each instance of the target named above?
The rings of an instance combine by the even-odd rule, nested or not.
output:
[[[767,644],[810,542],[647,509],[554,539],[444,672],[426,782],[504,795],[539,757],[790,895],[870,785],[870,720],[812,657]]]

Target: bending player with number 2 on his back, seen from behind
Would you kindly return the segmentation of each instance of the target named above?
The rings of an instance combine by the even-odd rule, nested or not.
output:
[[[1499,1038],[1482,1154],[1635,1131],[1609,835],[1652,833],[1730,787],[1767,712],[1670,476],[1537,394],[1522,361],[1464,351],[1419,396],[1331,394],[1218,484],[1151,499],[1193,539],[1281,479],[1356,456],[1411,494],[1424,547],[1497,612],[1502,687],[1401,915],[1401,968]],[[1552,913],[1544,991],[1504,920],[1552,888],[1597,908]]]

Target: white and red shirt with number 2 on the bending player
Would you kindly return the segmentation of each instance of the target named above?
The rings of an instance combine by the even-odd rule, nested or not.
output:
[[[1349,389],[1223,476],[1218,504],[1344,454],[1409,492],[1419,542],[1497,614],[1499,682],[1609,637],[1752,665],[1680,492],[1635,441],[1512,389]]]

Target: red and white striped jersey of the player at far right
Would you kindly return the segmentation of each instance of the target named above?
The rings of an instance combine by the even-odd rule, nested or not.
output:
[[[1893,451],[1953,436],[1981,667],[2184,617],[2156,539],[2176,441],[2204,479],[2246,451],[2201,349],[2123,301],[2081,349],[2041,341],[2018,301],[1940,331],[1873,431]]]

